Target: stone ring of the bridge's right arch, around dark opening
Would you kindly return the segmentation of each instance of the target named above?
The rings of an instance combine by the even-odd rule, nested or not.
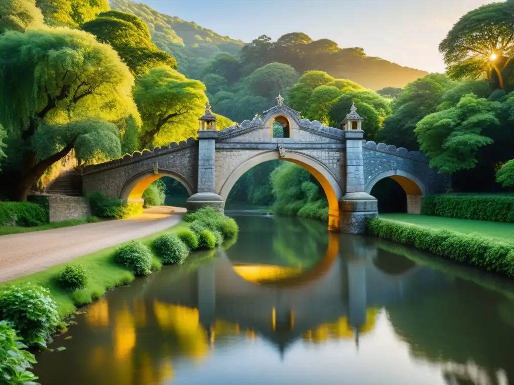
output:
[[[421,199],[427,194],[427,187],[425,183],[418,177],[402,170],[387,170],[380,172],[366,185],[366,192],[372,194],[372,189],[378,182],[384,178],[391,178],[405,191],[405,198],[401,198],[405,202],[406,211],[408,214],[420,214],[421,212]],[[378,186],[377,186],[378,187]],[[380,204],[380,202],[379,202]]]

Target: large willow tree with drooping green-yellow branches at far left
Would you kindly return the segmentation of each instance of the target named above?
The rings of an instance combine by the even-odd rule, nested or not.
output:
[[[61,27],[0,37],[0,123],[7,130],[12,198],[26,200],[45,170],[72,149],[84,153],[83,160],[113,156],[107,141],[82,152],[91,144],[84,136],[112,132],[84,120],[137,113],[133,83],[117,53],[86,32]]]

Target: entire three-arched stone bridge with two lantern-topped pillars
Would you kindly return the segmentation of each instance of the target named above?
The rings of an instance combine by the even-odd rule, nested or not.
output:
[[[215,117],[207,106],[198,139],[143,150],[107,163],[85,168],[83,189],[103,190],[108,196],[141,200],[153,181],[169,176],[190,194],[188,209],[210,205],[223,211],[235,182],[250,168],[269,161],[296,163],[316,177],[329,205],[329,229],[359,234],[364,220],[378,214],[370,195],[383,178],[392,178],[406,191],[408,212],[419,214],[421,197],[443,192],[447,176],[429,167],[424,153],[383,143],[366,142],[362,118],[355,106],[342,129],[300,118],[300,112],[278,104],[252,121],[216,131]],[[283,137],[273,137],[273,123]]]

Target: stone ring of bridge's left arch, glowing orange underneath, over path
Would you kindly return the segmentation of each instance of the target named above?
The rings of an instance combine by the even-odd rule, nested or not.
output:
[[[190,196],[194,194],[194,187],[191,182],[189,182],[187,178],[180,175],[178,172],[162,168],[157,169],[157,172],[158,174],[155,174],[154,170],[152,169],[141,172],[140,174],[137,174],[136,176],[129,179],[121,189],[120,198],[133,202],[140,201],[142,199],[144,190],[146,190],[146,188],[150,186],[152,182],[162,177],[170,177],[175,179],[184,188],[186,188]]]

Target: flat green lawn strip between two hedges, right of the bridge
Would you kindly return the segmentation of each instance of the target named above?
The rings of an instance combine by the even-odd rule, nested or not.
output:
[[[458,233],[478,234],[486,238],[514,242],[514,223],[429,217],[414,214],[380,214],[380,218],[396,222],[411,223],[421,227],[446,228]]]

